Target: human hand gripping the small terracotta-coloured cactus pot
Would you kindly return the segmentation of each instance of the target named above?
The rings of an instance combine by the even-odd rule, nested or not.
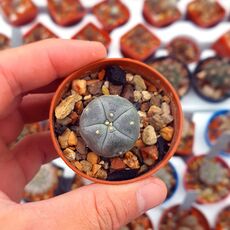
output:
[[[47,119],[61,78],[104,58],[96,42],[50,39],[0,53],[0,226],[7,229],[118,229],[166,196],[163,182],[93,184],[58,197],[18,204],[40,166],[57,157],[48,132],[9,144],[25,123]]]

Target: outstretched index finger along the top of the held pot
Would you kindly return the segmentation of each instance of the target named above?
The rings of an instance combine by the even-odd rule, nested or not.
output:
[[[10,113],[18,95],[46,86],[105,56],[101,43],[61,39],[3,51],[0,55],[0,116]]]

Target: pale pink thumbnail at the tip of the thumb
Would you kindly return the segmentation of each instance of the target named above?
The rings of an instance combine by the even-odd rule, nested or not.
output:
[[[140,214],[161,204],[166,197],[165,185],[156,178],[151,178],[141,184],[137,190],[137,205]]]

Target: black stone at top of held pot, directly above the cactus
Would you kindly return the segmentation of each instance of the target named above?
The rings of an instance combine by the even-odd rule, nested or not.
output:
[[[125,71],[121,69],[119,66],[107,66],[105,71],[106,79],[113,83],[114,85],[125,85]]]

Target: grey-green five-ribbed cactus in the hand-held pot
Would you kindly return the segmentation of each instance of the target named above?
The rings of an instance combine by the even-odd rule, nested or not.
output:
[[[140,133],[135,107],[119,96],[101,96],[83,110],[80,133],[88,147],[104,157],[115,157],[132,148]]]

